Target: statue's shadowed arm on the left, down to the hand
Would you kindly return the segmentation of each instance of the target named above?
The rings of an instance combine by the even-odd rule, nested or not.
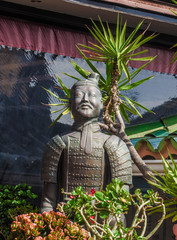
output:
[[[41,180],[43,181],[41,212],[49,212],[56,208],[58,164],[64,148],[65,144],[58,135],[52,138],[45,147],[41,166]]]

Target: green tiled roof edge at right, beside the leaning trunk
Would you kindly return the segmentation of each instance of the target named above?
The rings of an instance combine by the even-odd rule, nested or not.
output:
[[[156,122],[127,127],[126,133],[137,150],[144,144],[151,152],[161,152],[168,142],[177,153],[177,114]]]

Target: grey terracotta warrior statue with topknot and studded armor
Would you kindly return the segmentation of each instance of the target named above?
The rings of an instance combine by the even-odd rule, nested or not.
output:
[[[71,89],[70,109],[74,124],[69,133],[56,135],[46,145],[41,177],[44,183],[41,212],[55,210],[64,201],[60,189],[71,192],[82,186],[100,190],[119,178],[129,190],[132,161],[126,144],[115,135],[102,133],[98,116],[103,107],[99,75],[77,81]]]

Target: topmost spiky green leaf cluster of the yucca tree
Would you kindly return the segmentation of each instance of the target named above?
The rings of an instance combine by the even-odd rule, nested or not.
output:
[[[123,26],[120,25],[119,16],[117,18],[116,36],[114,37],[111,33],[110,27],[107,24],[107,29],[104,27],[103,22],[99,18],[99,23],[101,29],[92,20],[93,27],[89,28],[89,31],[93,37],[97,40],[97,44],[91,44],[91,46],[86,46],[83,44],[78,44],[80,47],[84,48],[82,52],[86,51],[89,53],[90,57],[88,59],[93,61],[105,62],[107,59],[109,61],[117,62],[125,72],[126,76],[130,78],[130,74],[127,68],[127,61],[150,61],[152,57],[135,57],[144,54],[147,50],[135,52],[140,46],[146,42],[152,40],[157,34],[152,34],[151,36],[144,37],[146,30],[139,36],[135,37],[138,30],[140,29],[143,21],[141,21],[132,33],[126,39],[126,29],[127,23],[125,22]],[[134,39],[135,38],[135,39]],[[143,39],[143,40],[142,40]],[[85,50],[87,49],[87,50]],[[120,69],[119,69],[120,70]]]

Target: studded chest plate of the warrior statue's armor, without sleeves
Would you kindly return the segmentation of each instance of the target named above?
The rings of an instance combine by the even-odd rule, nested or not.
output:
[[[68,154],[65,158],[68,161],[67,191],[70,192],[78,186],[82,186],[86,191],[92,188],[99,190],[104,173],[103,139],[93,138],[92,153],[89,155],[80,148],[78,138],[69,136],[68,141]]]

